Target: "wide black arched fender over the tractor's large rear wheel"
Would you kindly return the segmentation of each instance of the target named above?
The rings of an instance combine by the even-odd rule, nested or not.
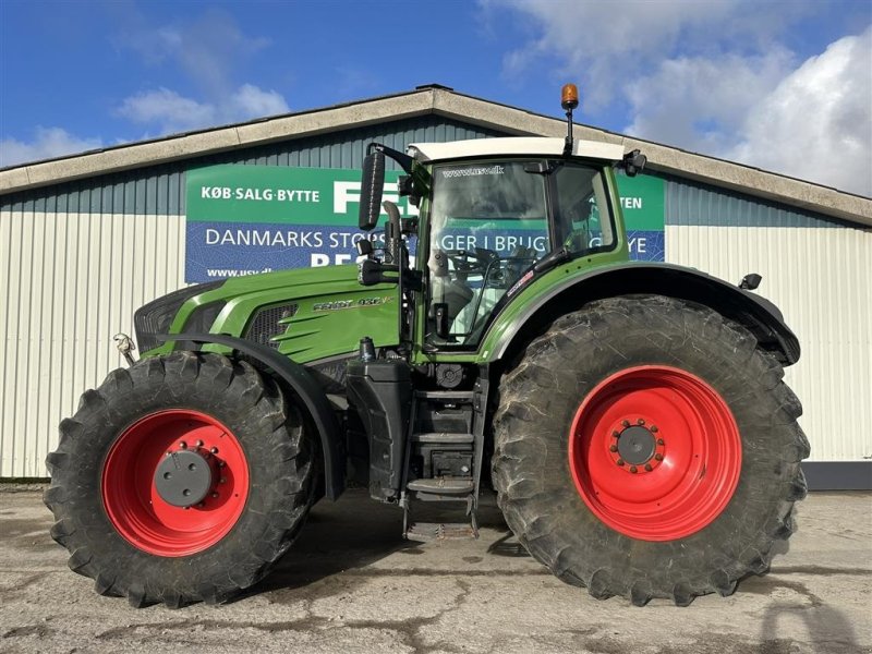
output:
[[[792,365],[799,360],[797,337],[782,312],[765,298],[692,268],[639,263],[592,269],[548,287],[514,314],[493,349],[493,358],[512,356],[556,317],[588,302],[632,293],[667,295],[708,306],[744,326],[782,364]]]

